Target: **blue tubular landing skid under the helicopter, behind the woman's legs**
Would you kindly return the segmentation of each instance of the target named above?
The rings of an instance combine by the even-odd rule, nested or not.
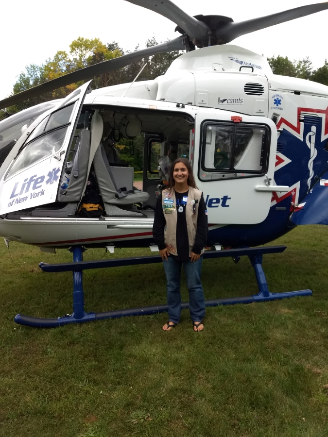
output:
[[[223,251],[205,252],[204,259],[248,256],[255,270],[256,280],[259,286],[259,293],[253,296],[236,297],[228,299],[212,299],[205,301],[206,306],[233,305],[236,303],[253,303],[285,299],[294,296],[311,296],[311,290],[290,291],[287,293],[270,293],[268,284],[262,269],[262,257],[267,253],[281,253],[286,246],[268,246],[242,249],[227,249]],[[73,272],[73,314],[57,319],[40,319],[37,317],[17,314],[15,322],[21,325],[33,326],[35,328],[54,328],[68,323],[84,323],[90,320],[115,319],[126,316],[142,316],[166,312],[167,305],[145,306],[141,308],[129,308],[118,311],[106,311],[104,313],[86,313],[84,311],[84,296],[82,285],[82,272],[86,269],[102,269],[105,267],[132,266],[137,264],[161,263],[162,259],[156,256],[137,256],[134,258],[105,259],[100,261],[82,261],[84,249],[81,246],[74,246],[70,249],[73,252],[73,262],[63,264],[40,263],[39,267],[45,272],[72,271]],[[238,259],[238,258],[237,258]],[[189,303],[182,303],[182,308],[189,308]]]

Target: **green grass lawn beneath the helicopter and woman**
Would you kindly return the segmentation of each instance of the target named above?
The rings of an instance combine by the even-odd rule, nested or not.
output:
[[[207,308],[194,333],[189,312],[170,333],[166,314],[51,330],[14,323],[17,313],[71,312],[70,261],[0,242],[0,436],[326,437],[328,435],[328,232],[298,227],[264,256],[270,291],[312,297]],[[85,259],[150,254],[88,250]],[[206,299],[257,293],[249,261],[206,260]],[[165,303],[161,265],[87,270],[86,311]],[[186,287],[183,300],[188,300]],[[326,387],[325,387],[326,386]]]

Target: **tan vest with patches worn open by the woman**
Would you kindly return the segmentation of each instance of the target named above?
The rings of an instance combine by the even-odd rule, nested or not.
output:
[[[196,188],[189,187],[188,201],[186,205],[186,221],[189,240],[189,256],[191,256],[191,249],[195,244],[195,237],[197,231],[198,206],[202,197],[202,192]],[[162,191],[162,209],[166,220],[164,229],[164,242],[172,255],[177,255],[176,249],[176,200],[174,189]],[[205,252],[205,248],[201,253]]]

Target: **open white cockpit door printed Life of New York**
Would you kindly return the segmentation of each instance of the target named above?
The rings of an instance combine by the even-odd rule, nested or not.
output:
[[[19,138],[13,149],[16,156],[0,181],[0,215],[56,202],[65,157],[84,98],[91,92],[90,83],[37,118]]]

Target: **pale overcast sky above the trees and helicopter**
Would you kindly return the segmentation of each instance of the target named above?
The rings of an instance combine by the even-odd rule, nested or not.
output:
[[[174,2],[190,15],[224,15],[242,21],[318,1]],[[57,50],[68,51],[70,42],[79,36],[98,37],[104,43],[117,41],[125,50],[134,50],[138,43],[143,48],[146,39],[152,36],[158,42],[178,36],[170,20],[124,0],[2,0],[0,11],[0,99],[10,94],[17,75],[26,65],[42,64]],[[328,11],[323,11],[244,35],[231,44],[267,57],[309,56],[314,67],[320,67],[328,58],[327,23]]]

